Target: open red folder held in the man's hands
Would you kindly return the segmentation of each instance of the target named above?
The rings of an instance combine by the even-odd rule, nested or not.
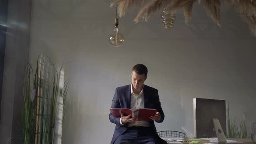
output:
[[[134,111],[128,108],[111,108],[110,111],[114,117],[121,117],[121,113],[125,116],[132,115],[132,118],[137,115],[137,121],[153,121],[149,117],[157,113],[156,109],[151,108],[138,108]]]

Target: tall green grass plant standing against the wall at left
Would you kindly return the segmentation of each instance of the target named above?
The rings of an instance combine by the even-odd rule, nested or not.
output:
[[[28,65],[23,90],[23,144],[54,144],[57,99],[62,97],[64,106],[69,82],[59,83],[63,65],[57,71],[47,56],[38,57],[35,71]]]

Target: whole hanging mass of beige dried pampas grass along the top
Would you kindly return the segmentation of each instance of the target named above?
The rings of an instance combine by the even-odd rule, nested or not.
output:
[[[183,9],[185,22],[188,24],[196,1],[204,7],[218,26],[221,26],[221,1],[229,3],[240,13],[240,16],[249,25],[251,32],[256,36],[256,0],[115,0],[111,3],[111,7],[118,4],[119,16],[124,16],[132,7],[141,7],[134,19],[135,22],[141,19],[148,20],[152,13],[162,11],[164,8],[167,8],[167,13],[175,13],[177,10]]]

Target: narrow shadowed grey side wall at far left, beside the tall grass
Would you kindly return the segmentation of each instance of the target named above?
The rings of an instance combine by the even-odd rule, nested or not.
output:
[[[23,78],[30,40],[31,0],[10,0],[3,69],[0,144],[21,144]]]

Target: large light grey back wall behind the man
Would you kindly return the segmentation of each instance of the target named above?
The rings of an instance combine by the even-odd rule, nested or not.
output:
[[[119,19],[125,43],[114,48],[115,9],[110,0],[36,0],[32,5],[30,62],[45,53],[66,65],[71,80],[63,128],[63,144],[109,143],[114,124],[108,120],[115,88],[131,82],[131,68],[144,63],[145,84],[158,88],[166,118],[158,131],[194,134],[193,98],[224,99],[233,116],[256,121],[256,38],[233,8],[222,7],[217,27],[202,7],[193,10],[189,27],[177,13],[172,29],[160,15],[132,22],[137,11]]]

